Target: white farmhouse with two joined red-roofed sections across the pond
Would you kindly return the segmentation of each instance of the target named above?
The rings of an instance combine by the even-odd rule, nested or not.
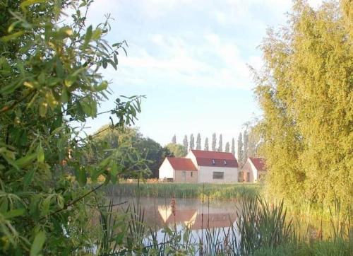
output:
[[[160,180],[189,183],[238,182],[238,162],[232,153],[191,150],[185,158],[164,159]]]

